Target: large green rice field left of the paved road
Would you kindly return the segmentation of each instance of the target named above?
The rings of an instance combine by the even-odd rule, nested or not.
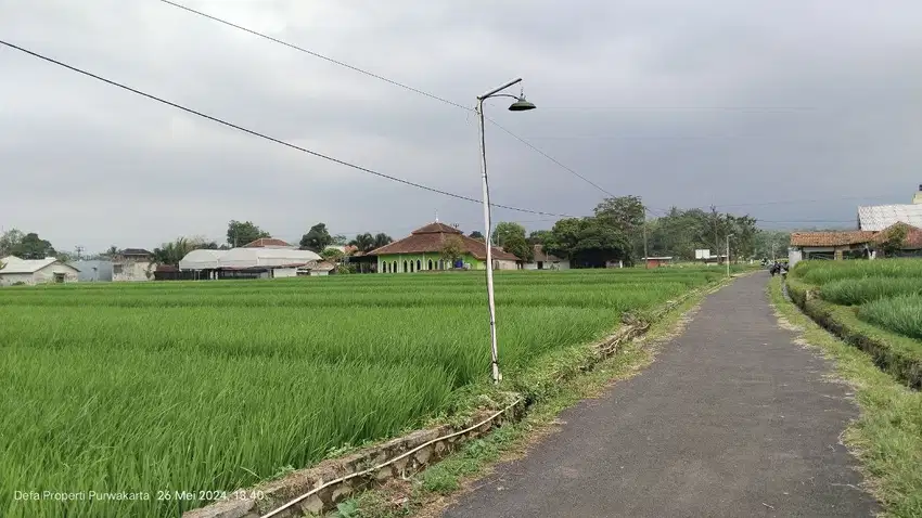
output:
[[[504,377],[719,277],[501,272]],[[418,427],[489,381],[486,316],[483,273],[2,288],[0,516],[175,517]]]

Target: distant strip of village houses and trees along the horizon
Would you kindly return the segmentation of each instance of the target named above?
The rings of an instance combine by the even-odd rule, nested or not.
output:
[[[922,257],[922,185],[910,204],[859,206],[857,229],[847,231],[771,233],[756,229],[756,220],[748,217],[700,209],[674,209],[675,213],[648,222],[643,210],[639,198],[609,198],[597,207],[594,218],[561,220],[550,231],[528,236],[517,223],[499,223],[489,260],[494,270],[567,270],[637,263],[660,268],[680,261],[722,264],[728,259],[785,260],[793,267],[807,259]],[[628,212],[631,218],[622,217]],[[597,249],[574,242],[575,235],[589,235],[599,243],[604,241],[600,236],[613,234],[612,230],[620,242],[609,237],[610,243],[597,245]],[[0,239],[0,286],[417,273],[485,270],[488,264],[487,245],[479,232],[465,235],[457,225],[439,221],[397,241],[367,233],[349,242],[345,236],[331,236],[319,223],[298,245],[273,238],[252,222],[231,221],[229,243],[236,244],[239,236],[255,238],[232,246],[181,237],[153,251],[113,247],[90,258],[47,255],[42,250],[53,248],[37,234],[11,234],[7,232]],[[721,250],[722,241],[726,250]],[[644,250],[633,256],[638,260],[631,257],[633,249]]]

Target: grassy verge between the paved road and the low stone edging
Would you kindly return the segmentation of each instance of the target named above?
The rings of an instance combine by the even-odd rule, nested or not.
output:
[[[649,365],[656,352],[655,347],[650,345],[674,335],[707,294],[723,286],[726,284],[721,282],[693,293],[651,324],[641,339],[629,340],[617,354],[599,362],[591,371],[542,392],[522,420],[505,425],[483,439],[465,444],[459,452],[409,480],[392,480],[382,488],[347,500],[340,504],[338,511],[328,516],[397,518],[438,515],[460,491],[472,481],[488,475],[497,463],[525,454],[532,444],[552,433],[556,416],[563,410],[580,400],[597,397],[613,383],[631,377]],[[559,373],[562,364],[580,363],[585,357],[585,346],[559,352],[558,361],[542,365],[546,373]]]

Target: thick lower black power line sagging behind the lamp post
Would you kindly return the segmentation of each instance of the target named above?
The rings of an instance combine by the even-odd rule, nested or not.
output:
[[[307,153],[307,154],[309,154],[309,155],[313,155],[313,156],[316,156],[316,157],[318,157],[318,158],[323,158],[324,160],[333,161],[333,163],[335,163],[335,164],[340,164],[340,165],[342,165],[342,166],[350,167],[350,168],[353,168],[353,169],[356,169],[356,170],[359,170],[359,171],[362,171],[362,172],[367,172],[367,173],[369,173],[369,174],[374,174],[374,176],[376,176],[376,177],[384,178],[384,179],[386,179],[386,180],[390,180],[390,181],[394,181],[394,182],[402,183],[402,184],[405,184],[405,185],[410,185],[410,186],[413,186],[413,187],[417,187],[417,189],[422,189],[422,190],[424,190],[424,191],[430,191],[430,192],[433,192],[433,193],[436,193],[436,194],[441,194],[441,195],[444,195],[444,196],[449,196],[449,197],[453,197],[453,198],[458,198],[458,199],[463,199],[463,200],[465,200],[465,202],[472,202],[472,203],[476,203],[476,204],[481,204],[481,203],[482,203],[481,200],[475,199],[475,198],[472,198],[472,197],[470,197],[470,196],[464,196],[464,195],[461,195],[461,194],[456,194],[456,193],[451,193],[451,192],[448,192],[448,191],[443,191],[443,190],[440,190],[440,189],[431,187],[431,186],[428,186],[428,185],[423,185],[423,184],[421,184],[421,183],[415,183],[415,182],[412,182],[412,181],[410,181],[410,180],[405,180],[405,179],[402,179],[402,178],[393,177],[393,176],[390,176],[390,174],[385,174],[385,173],[383,173],[383,172],[379,172],[379,171],[375,171],[375,170],[372,170],[372,169],[369,169],[369,168],[366,168],[366,167],[362,167],[362,166],[358,166],[358,165],[356,165],[356,164],[351,164],[351,163],[348,163],[348,161],[342,160],[342,159],[340,159],[340,158],[334,158],[334,157],[332,157],[332,156],[324,155],[324,154],[322,154],[322,153],[318,153],[318,152],[316,152],[316,151],[310,151],[310,150],[308,150],[308,148],[306,148],[306,147],[302,147],[302,146],[298,146],[298,145],[295,145],[295,144],[292,144],[292,143],[285,142],[285,141],[283,141],[283,140],[281,140],[281,139],[277,139],[277,138],[274,138],[274,137],[270,137],[270,135],[267,135],[267,134],[265,134],[265,133],[260,133],[260,132],[258,132],[258,131],[254,131],[254,130],[251,130],[251,129],[244,128],[243,126],[239,126],[239,125],[235,125],[235,124],[233,124],[233,122],[229,122],[229,121],[227,121],[227,120],[220,119],[220,118],[218,118],[218,117],[214,117],[214,116],[212,116],[212,115],[207,115],[207,114],[204,114],[204,113],[202,113],[202,112],[197,112],[197,111],[195,111],[195,109],[192,109],[192,108],[185,107],[185,106],[183,106],[183,105],[181,105],[181,104],[177,104],[177,103],[174,103],[174,102],[167,101],[167,100],[165,100],[165,99],[158,98],[158,96],[156,96],[156,95],[152,95],[152,94],[150,94],[150,93],[142,92],[141,90],[138,90],[138,89],[135,89],[135,88],[131,88],[131,87],[128,87],[128,86],[121,85],[121,83],[116,82],[116,81],[113,81],[113,80],[111,80],[111,79],[106,79],[106,78],[104,78],[104,77],[102,77],[102,76],[98,76],[98,75],[95,75],[95,74],[92,74],[92,73],[90,73],[90,72],[84,70],[84,69],[81,69],[81,68],[77,68],[77,67],[75,67],[75,66],[72,66],[72,65],[68,65],[68,64],[66,64],[66,63],[60,62],[60,61],[54,60],[54,59],[52,59],[52,57],[44,56],[44,55],[39,54],[39,53],[37,53],[37,52],[33,52],[33,51],[30,51],[30,50],[28,50],[28,49],[24,49],[24,48],[22,48],[22,47],[18,47],[18,46],[16,46],[16,44],[10,43],[10,42],[8,42],[8,41],[0,40],[0,44],[4,44],[4,46],[7,46],[7,47],[9,47],[9,48],[11,48],[11,49],[17,50],[17,51],[20,51],[20,52],[24,52],[24,53],[29,54],[29,55],[31,55],[31,56],[34,56],[34,57],[38,57],[39,60],[42,60],[42,61],[46,61],[46,62],[49,62],[49,63],[53,63],[53,64],[55,64],[55,65],[62,66],[62,67],[67,68],[67,69],[69,69],[69,70],[76,72],[76,73],[81,74],[81,75],[85,75],[85,76],[87,76],[87,77],[91,77],[91,78],[93,78],[93,79],[97,79],[97,80],[99,80],[99,81],[102,81],[102,82],[105,82],[105,83],[112,85],[112,86],[114,86],[114,87],[118,87],[118,88],[120,88],[120,89],[123,89],[123,90],[127,90],[127,91],[129,91],[129,92],[131,92],[131,93],[135,93],[135,94],[141,95],[141,96],[148,98],[148,99],[153,100],[153,101],[156,101],[156,102],[158,102],[158,103],[163,103],[163,104],[166,104],[166,105],[168,105],[168,106],[172,106],[172,107],[175,107],[175,108],[181,109],[181,111],[183,111],[183,112],[187,112],[187,113],[190,113],[190,114],[196,115],[196,116],[199,116],[199,117],[202,117],[202,118],[205,118],[205,119],[212,120],[213,122],[217,122],[217,124],[219,124],[219,125],[227,126],[227,127],[229,127],[229,128],[233,128],[233,129],[239,130],[239,131],[243,131],[244,133],[248,133],[248,134],[252,134],[252,135],[254,135],[254,137],[258,137],[258,138],[260,138],[260,139],[265,139],[265,140],[268,140],[268,141],[270,141],[270,142],[274,142],[274,143],[277,143],[277,144],[284,145],[284,146],[286,146],[286,147],[291,147],[291,148],[293,148],[293,150],[297,150],[297,151],[299,151],[299,152],[302,152],[302,153]],[[500,204],[490,204],[490,206],[491,206],[491,207],[497,207],[497,208],[503,208],[503,209],[508,209],[508,210],[514,210],[514,211],[517,211],[517,212],[527,212],[527,213],[534,213],[534,215],[539,215],[539,216],[556,216],[556,217],[564,217],[564,218],[569,217],[568,215],[554,213],[554,212],[545,212],[545,211],[541,211],[541,210],[523,209],[523,208],[518,208],[518,207],[511,207],[511,206],[508,206],[508,205],[500,205]]]

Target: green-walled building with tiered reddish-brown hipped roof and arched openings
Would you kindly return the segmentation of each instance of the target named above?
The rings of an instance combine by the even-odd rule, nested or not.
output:
[[[461,258],[454,264],[441,257],[441,250],[449,239],[457,239],[461,248]],[[522,262],[514,255],[497,247],[491,247],[490,252],[494,270],[516,270]],[[486,244],[438,221],[417,229],[409,236],[372,250],[369,255],[377,256],[377,271],[381,273],[487,268]]]

